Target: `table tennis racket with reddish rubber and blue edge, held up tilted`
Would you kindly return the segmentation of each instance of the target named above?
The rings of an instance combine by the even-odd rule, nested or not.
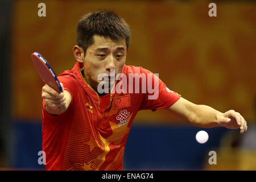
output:
[[[61,88],[60,82],[46,59],[44,59],[44,57],[38,52],[32,53],[31,58],[44,83],[51,86],[51,88],[55,89],[56,92],[62,93],[63,89]],[[66,107],[61,106],[60,109],[65,110]]]

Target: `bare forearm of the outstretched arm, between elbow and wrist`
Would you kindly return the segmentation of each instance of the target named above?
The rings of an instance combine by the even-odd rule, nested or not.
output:
[[[195,105],[192,109],[191,124],[197,127],[217,127],[220,126],[219,119],[223,113],[207,105]]]

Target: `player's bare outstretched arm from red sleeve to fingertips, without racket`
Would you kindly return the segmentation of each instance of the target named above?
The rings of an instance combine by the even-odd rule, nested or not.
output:
[[[210,106],[196,105],[182,97],[169,109],[193,126],[206,128],[224,126],[228,129],[240,128],[240,133],[247,131],[245,119],[234,110],[221,113]]]

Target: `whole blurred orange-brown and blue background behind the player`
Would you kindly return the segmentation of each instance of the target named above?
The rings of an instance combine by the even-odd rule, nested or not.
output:
[[[46,4],[46,17],[38,4]],[[209,17],[210,2],[217,17]],[[130,25],[127,65],[141,66],[195,104],[234,109],[248,131],[193,127],[167,110],[140,111],[123,169],[256,170],[255,1],[0,1],[0,169],[40,169],[44,85],[31,61],[38,51],[59,75],[76,60],[76,25],[88,11],[114,10]],[[198,131],[209,140],[196,142]],[[217,164],[210,165],[209,151]]]

